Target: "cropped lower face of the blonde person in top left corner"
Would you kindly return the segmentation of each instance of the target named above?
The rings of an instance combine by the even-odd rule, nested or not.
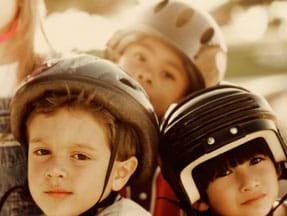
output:
[[[18,0],[0,0],[0,34],[8,31],[17,10]]]

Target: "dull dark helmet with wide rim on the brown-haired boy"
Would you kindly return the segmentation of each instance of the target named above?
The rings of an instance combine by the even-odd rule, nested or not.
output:
[[[119,120],[131,124],[139,136],[136,180],[149,176],[158,145],[158,120],[144,90],[115,64],[94,56],[62,59],[24,81],[12,99],[11,128],[15,138],[26,145],[24,124],[31,104],[48,91],[93,92],[94,100]]]

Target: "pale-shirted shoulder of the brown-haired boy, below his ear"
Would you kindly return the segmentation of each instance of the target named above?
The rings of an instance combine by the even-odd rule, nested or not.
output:
[[[112,205],[105,208],[98,216],[151,216],[151,214],[142,208],[136,202],[120,197]]]

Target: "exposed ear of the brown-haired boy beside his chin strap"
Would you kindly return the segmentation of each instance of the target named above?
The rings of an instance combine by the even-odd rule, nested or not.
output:
[[[130,179],[131,175],[135,172],[138,166],[136,157],[130,157],[125,161],[117,161],[114,167],[112,190],[121,190]]]

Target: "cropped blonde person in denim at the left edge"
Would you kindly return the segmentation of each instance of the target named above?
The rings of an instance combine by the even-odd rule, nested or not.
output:
[[[0,6],[0,199],[8,196],[1,215],[31,215],[36,211],[16,191],[7,192],[26,179],[25,154],[10,131],[9,103],[17,84],[39,61],[34,36],[40,2],[5,0]]]

